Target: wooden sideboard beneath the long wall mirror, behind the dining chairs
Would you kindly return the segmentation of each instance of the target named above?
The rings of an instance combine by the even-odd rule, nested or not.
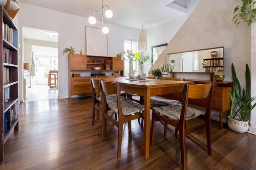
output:
[[[191,81],[195,84],[203,84],[203,83],[210,83],[207,80],[193,80],[193,79],[185,79],[185,81]],[[229,92],[232,89],[232,82],[215,82],[214,86],[214,94],[212,97],[212,110],[219,111],[219,122],[220,122],[220,129],[222,129],[222,117],[224,113],[229,114],[230,110],[230,99],[229,99]],[[164,95],[165,98],[179,100],[181,99],[181,94],[173,93]],[[188,101],[189,104],[203,106],[206,107],[207,102],[205,100],[191,100]]]

